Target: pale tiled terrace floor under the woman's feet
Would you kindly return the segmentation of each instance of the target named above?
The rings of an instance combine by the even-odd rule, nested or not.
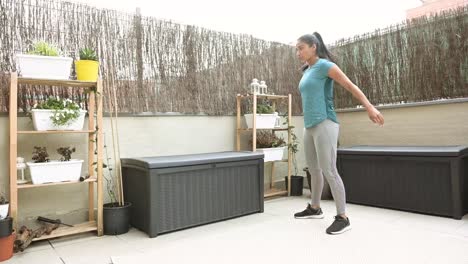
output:
[[[298,220],[308,198],[265,202],[265,212],[156,238],[136,229],[120,236],[93,233],[33,243],[4,263],[468,263],[468,215],[462,220],[348,204],[353,229],[325,234],[322,220]]]

